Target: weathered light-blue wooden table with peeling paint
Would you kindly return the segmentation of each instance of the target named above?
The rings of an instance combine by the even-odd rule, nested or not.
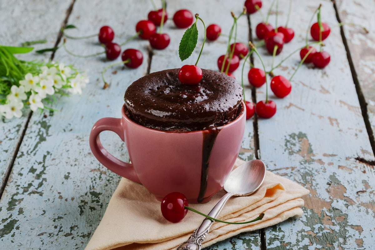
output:
[[[206,25],[217,23],[228,34],[244,1],[168,1],[169,18],[182,8],[199,13]],[[269,1],[263,1],[266,14]],[[269,170],[310,190],[305,197],[301,218],[240,234],[208,249],[373,249],[375,245],[375,178],[373,130],[375,126],[375,3],[366,1],[293,1],[289,26],[296,36],[285,44],[275,64],[305,44],[306,29],[314,10],[322,4],[322,20],[332,27],[324,41],[331,55],[324,69],[300,67],[289,96],[279,99],[270,92],[278,111],[270,119],[256,116],[246,122],[240,151],[244,160],[259,158]],[[160,5],[159,1],[156,4]],[[60,27],[74,24],[69,34],[95,34],[102,25],[115,31],[115,41],[135,34],[135,24],[153,9],[148,0],[138,1],[0,1],[0,44],[20,46],[21,42],[46,39],[35,49],[61,46]],[[274,9],[275,10],[275,9]],[[275,25],[275,11],[270,23]],[[285,24],[288,1],[279,3],[278,23]],[[255,38],[260,13],[238,21],[238,40]],[[339,21],[355,22],[368,28]],[[198,23],[198,47],[202,25]],[[21,118],[0,121],[0,249],[84,249],[98,226],[120,177],[107,171],[89,148],[90,129],[99,118],[120,117],[123,93],[135,79],[167,68],[193,64],[199,49],[183,63],[177,56],[184,29],[168,20],[163,30],[171,44],[165,50],[151,49],[147,41],[135,39],[123,46],[143,52],[138,69],[116,66],[106,74],[110,87],[103,90],[102,70],[112,62],[104,56],[73,57],[58,49],[54,54],[21,55],[26,60],[52,59],[87,70],[90,83],[81,96],[58,97],[57,112],[26,111]],[[68,31],[67,31],[68,32]],[[251,32],[251,33],[249,33]],[[228,38],[207,42],[199,61],[202,68],[217,69],[216,60],[225,53]],[[102,51],[96,38],[68,40],[67,47],[77,54]],[[266,68],[272,57],[258,48]],[[117,60],[119,61],[119,59]],[[298,53],[273,72],[291,76],[299,64]],[[256,67],[260,61],[254,57]],[[265,86],[251,88],[247,99],[265,99]],[[234,73],[241,81],[241,70]],[[129,160],[127,151],[113,133],[102,136],[108,151]]]

